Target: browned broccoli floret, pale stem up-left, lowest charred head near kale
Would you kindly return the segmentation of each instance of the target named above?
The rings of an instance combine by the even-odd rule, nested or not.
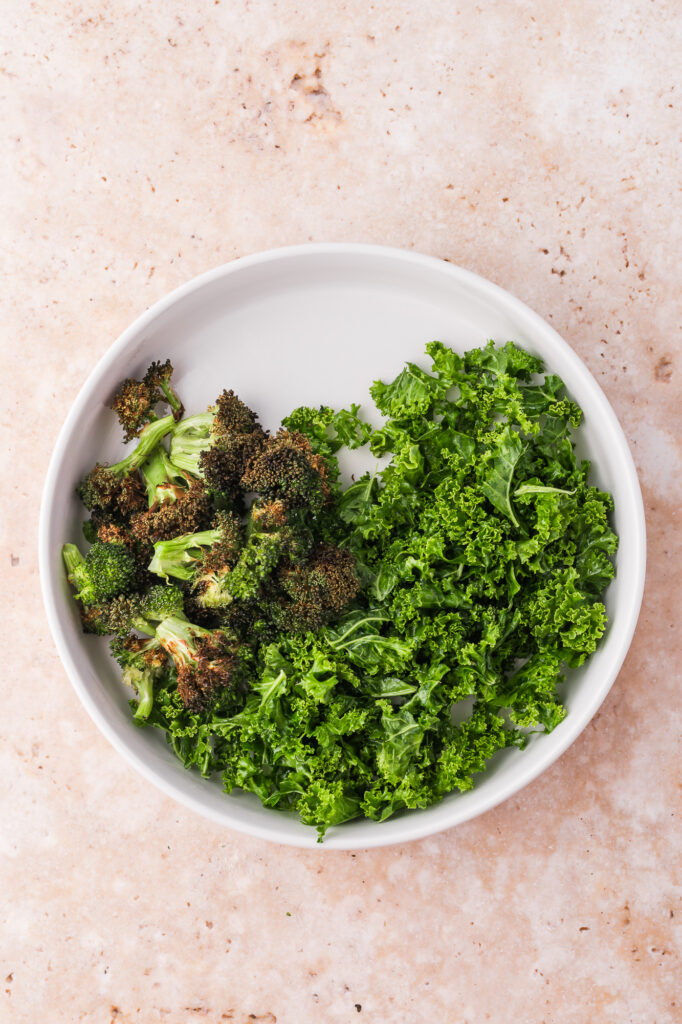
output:
[[[175,665],[178,693],[186,708],[207,708],[235,682],[239,643],[227,631],[207,630],[175,614],[159,623],[156,637]]]

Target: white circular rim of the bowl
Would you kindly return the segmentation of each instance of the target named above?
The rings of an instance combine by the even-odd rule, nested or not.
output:
[[[406,827],[402,829],[404,835],[395,836],[392,834],[393,830],[391,829],[391,835],[386,835],[384,833],[382,836],[381,824],[383,824],[383,822],[375,822],[374,824],[377,826],[376,835],[372,838],[363,837],[361,840],[356,840],[351,839],[351,836],[348,836],[347,840],[344,841],[343,830],[340,828],[338,830],[330,830],[329,839],[326,840],[324,844],[316,843],[316,837],[314,835],[314,829],[312,828],[310,828],[309,840],[303,836],[299,839],[289,835],[278,835],[278,816],[274,811],[272,812],[271,822],[263,824],[259,824],[257,822],[228,820],[228,802],[225,802],[226,813],[224,813],[202,803],[202,801],[198,797],[195,797],[191,793],[176,788],[174,783],[165,776],[162,767],[157,768],[147,763],[143,757],[139,756],[130,746],[121,741],[114,728],[110,725],[106,716],[97,707],[93,697],[90,695],[87,686],[83,682],[80,670],[72,656],[70,645],[68,644],[66,636],[62,632],[57,611],[59,597],[56,573],[54,570],[53,560],[51,559],[51,551],[48,546],[48,524],[51,509],[58,494],[60,482],[59,467],[65,452],[68,447],[74,428],[81,416],[81,412],[87,406],[96,383],[103,376],[105,376],[110,367],[119,354],[122,353],[125,348],[137,337],[137,335],[148,324],[156,319],[156,317],[191,293],[200,291],[202,288],[223,276],[247,269],[250,266],[270,261],[288,260],[303,255],[321,257],[328,255],[376,256],[384,257],[389,260],[395,260],[397,262],[411,263],[415,266],[421,266],[422,268],[437,269],[440,273],[444,272],[450,274],[454,281],[458,281],[465,288],[475,292],[477,295],[491,298],[498,307],[502,307],[506,311],[514,313],[517,317],[520,316],[521,318],[524,318],[526,323],[528,323],[536,330],[540,330],[553,345],[556,345],[563,351],[564,358],[572,364],[572,369],[581,378],[582,384],[585,385],[587,390],[592,392],[592,397],[599,407],[600,414],[605,417],[606,421],[608,421],[611,431],[613,431],[621,442],[621,456],[628,475],[627,483],[633,497],[633,505],[629,510],[629,514],[634,517],[634,535],[636,539],[636,550],[631,556],[634,567],[634,586],[628,594],[626,607],[620,611],[621,621],[619,623],[619,644],[615,654],[611,654],[610,671],[606,673],[607,678],[605,678],[604,682],[602,682],[599,689],[595,691],[592,701],[588,706],[587,710],[580,716],[576,714],[573,716],[568,716],[564,720],[565,725],[562,733],[558,736],[555,734],[556,738],[553,743],[548,744],[548,749],[544,757],[539,757],[537,762],[529,765],[525,771],[517,772],[513,779],[507,780],[506,784],[502,782],[498,788],[483,799],[481,806],[474,807],[470,810],[461,810],[459,814],[454,815],[456,818],[455,820],[444,822],[439,820],[433,821],[430,819],[424,819],[421,815],[406,814],[404,817],[400,818],[400,821],[406,824]],[[212,269],[190,279],[179,287],[173,289],[167,295],[163,296],[145,309],[104,351],[99,360],[88,374],[88,377],[79,390],[61,426],[61,429],[59,430],[52,455],[50,457],[40,507],[38,564],[43,603],[50,632],[71,684],[76,690],[76,693],[78,694],[88,715],[100,732],[105,736],[110,743],[112,743],[114,749],[121,754],[126,761],[144,778],[153,782],[167,796],[172,797],[175,801],[188,809],[216,821],[223,827],[226,826],[245,835],[264,839],[268,842],[323,851],[330,849],[371,849],[424,839],[428,836],[453,828],[458,824],[462,824],[467,820],[471,820],[474,817],[484,814],[488,810],[492,810],[494,807],[503,803],[505,800],[508,800],[509,797],[513,796],[515,793],[520,792],[520,790],[542,774],[542,772],[558,760],[567,748],[578,738],[583,729],[585,729],[588,723],[594,718],[595,714],[599,710],[599,707],[611,689],[632,643],[644,591],[646,573],[646,525],[642,494],[635,462],[623,427],[621,426],[608,398],[602,391],[596,379],[592,376],[588,367],[573,351],[570,345],[568,345],[568,343],[564,341],[557,331],[542,316],[540,316],[539,313],[535,312],[524,302],[516,298],[516,296],[512,295],[506,289],[503,289],[501,286],[494,284],[487,279],[474,273],[471,270],[466,270],[458,264],[451,263],[449,260],[442,260],[435,256],[428,256],[423,253],[416,253],[411,250],[399,249],[391,246],[373,245],[368,243],[305,243],[302,245],[267,249],[262,252],[256,252],[248,256],[243,256],[230,260],[227,263],[215,266]],[[457,805],[454,806],[456,807]],[[396,819],[393,820],[395,821]],[[409,821],[411,822],[410,825],[407,824]]]

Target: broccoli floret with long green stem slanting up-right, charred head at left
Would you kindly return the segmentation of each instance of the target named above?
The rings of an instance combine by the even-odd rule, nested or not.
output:
[[[165,416],[147,424],[140,433],[139,444],[125,459],[114,466],[97,463],[78,488],[85,507],[124,516],[143,509],[144,492],[136,471],[172,429],[174,422],[172,416]]]

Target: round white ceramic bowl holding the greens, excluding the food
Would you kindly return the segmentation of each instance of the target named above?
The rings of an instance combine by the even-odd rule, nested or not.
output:
[[[104,640],[84,636],[61,565],[65,541],[81,538],[76,483],[97,460],[123,451],[108,402],[125,377],[154,358],[171,358],[188,412],[223,387],[268,427],[298,404],[367,402],[370,383],[392,379],[404,359],[420,361],[438,338],[460,351],[487,338],[514,339],[559,374],[581,404],[581,454],[593,481],[615,501],[616,577],[605,603],[609,626],[596,654],[565,685],[568,714],[525,751],[498,754],[474,788],[388,821],[332,828],[322,847],[313,828],[263,808],[247,794],[227,796],[218,779],[186,771],[157,729],[133,725],[118,666]],[[428,364],[426,364],[428,366]],[[635,630],[644,585],[642,499],[628,444],[594,378],[540,316],[507,292],[451,263],[397,249],[309,245],[249,256],[217,267],[142,313],[109,349],[74,402],[50,463],[40,520],[40,571],[54,640],[91,718],[146,778],[187,807],[230,828],[293,846],[375,847],[414,840],[481,814],[536,778],[576,739],[608,692]]]

